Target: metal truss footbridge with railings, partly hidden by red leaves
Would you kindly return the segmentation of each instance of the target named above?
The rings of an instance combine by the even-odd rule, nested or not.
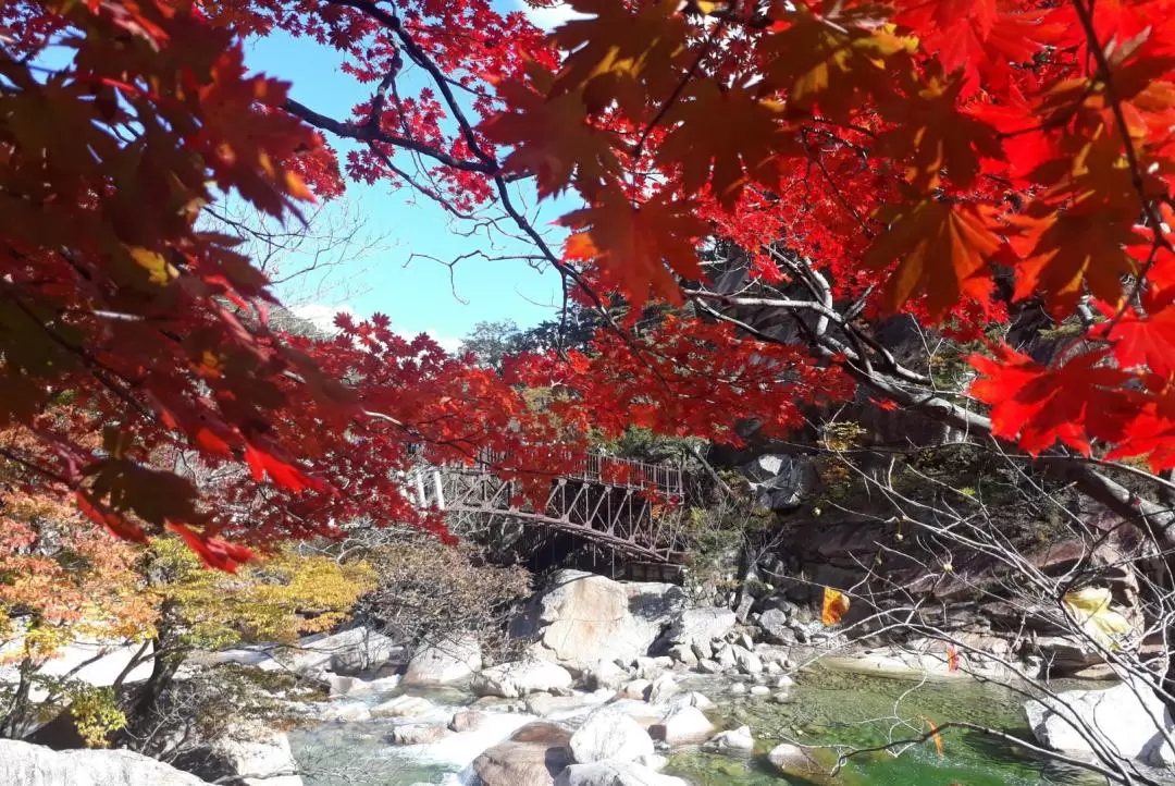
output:
[[[508,456],[488,451],[472,464],[419,464],[407,477],[408,492],[417,508],[443,512],[458,531],[513,520],[577,536],[630,559],[684,560],[680,469],[588,454],[576,469],[551,478],[542,503],[523,501],[517,482],[496,471],[506,465]]]

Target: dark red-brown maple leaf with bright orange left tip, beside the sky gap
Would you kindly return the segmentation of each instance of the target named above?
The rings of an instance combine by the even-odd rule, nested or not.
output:
[[[568,239],[571,258],[595,258],[627,291],[633,307],[647,298],[650,288],[671,303],[680,303],[677,282],[665,268],[686,278],[701,277],[694,240],[706,234],[697,217],[697,204],[662,192],[633,207],[617,187],[606,188],[592,207],[562,220],[579,231]]]

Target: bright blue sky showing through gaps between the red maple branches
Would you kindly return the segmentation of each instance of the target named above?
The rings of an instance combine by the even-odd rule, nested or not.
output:
[[[499,1],[522,7],[519,0]],[[560,16],[558,11],[538,12],[535,21],[546,26]],[[274,35],[251,41],[247,58],[250,68],[293,82],[295,100],[334,117],[349,116],[351,107],[370,95],[370,86],[338,69],[334,51],[313,42]],[[336,147],[341,153],[347,149]],[[491,244],[484,235],[458,236],[448,214],[425,197],[414,199],[407,189],[392,190],[385,184],[348,183],[347,195],[327,209],[336,216],[365,216],[364,231],[378,236],[380,249],[336,268],[325,293],[282,293],[307,316],[322,318],[337,309],[361,316],[382,311],[398,331],[430,332],[452,347],[478,321],[512,318],[519,325],[531,325],[550,317],[559,303],[558,276],[540,274],[524,262],[463,261],[454,268],[451,282],[450,269],[443,264],[421,258],[409,263],[414,253],[450,260],[475,249],[494,256],[511,248],[503,240]],[[526,202],[533,207],[533,196],[528,195]],[[549,203],[531,215],[543,228],[566,208]]]

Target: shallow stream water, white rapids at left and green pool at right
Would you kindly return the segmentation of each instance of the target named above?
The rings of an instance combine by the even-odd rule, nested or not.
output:
[[[1029,784],[1103,782],[1081,771],[1050,764],[1030,751],[975,732],[946,730],[941,751],[921,745],[853,757],[835,778],[780,777],[766,752],[781,741],[868,748],[918,737],[928,724],[966,720],[1030,739],[1025,727],[1023,697],[999,685],[966,679],[915,683],[814,670],[801,673],[790,704],[732,696],[730,681],[693,678],[691,690],[717,704],[707,714],[724,728],[751,727],[753,755],[727,757],[687,750],[670,758],[666,772],[693,786],[1021,786]],[[1093,687],[1088,683],[1082,687]],[[422,692],[436,703],[428,717],[411,723],[444,724],[472,700],[456,691]],[[376,703],[389,696],[371,697]],[[458,774],[483,750],[515,728],[536,720],[522,713],[496,713],[477,732],[454,734],[441,743],[397,747],[387,737],[395,721],[331,724],[291,732],[295,757],[307,772],[307,786],[410,786],[462,782]],[[401,720],[400,723],[404,723]],[[835,753],[825,751],[834,761]],[[818,752],[817,755],[819,755]]]

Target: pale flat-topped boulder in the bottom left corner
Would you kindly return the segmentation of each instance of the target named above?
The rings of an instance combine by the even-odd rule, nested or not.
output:
[[[53,751],[0,740],[0,784],[12,786],[207,786],[207,781],[130,751]]]

